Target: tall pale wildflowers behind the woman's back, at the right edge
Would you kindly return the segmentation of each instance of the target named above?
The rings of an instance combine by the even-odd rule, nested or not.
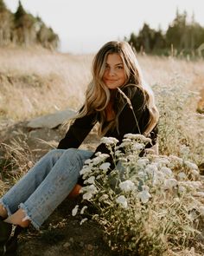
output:
[[[159,119],[159,147],[162,154],[176,154],[198,165],[204,154],[204,121],[195,113],[198,95],[188,90],[187,81],[174,75],[169,84],[154,85]]]

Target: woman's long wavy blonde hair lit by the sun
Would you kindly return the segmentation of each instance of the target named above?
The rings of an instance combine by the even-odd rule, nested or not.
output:
[[[108,89],[103,82],[103,75],[105,72],[105,62],[109,54],[117,53],[124,64],[124,73],[126,75],[126,81],[120,89],[128,90],[128,98],[131,98],[132,86],[135,86],[142,90],[144,95],[144,105],[150,111],[150,121],[147,127],[143,131],[143,135],[149,135],[151,130],[156,126],[159,118],[159,113],[155,104],[155,97],[153,91],[149,85],[144,82],[143,75],[139,64],[137,62],[136,55],[131,49],[131,46],[127,42],[112,41],[105,43],[105,45],[99,49],[99,52],[93,58],[92,62],[92,81],[88,84],[86,89],[86,99],[83,107],[80,109],[78,115],[74,116],[72,121],[77,118],[81,118],[85,115],[92,114],[97,111],[99,114],[99,135],[105,135],[107,130],[112,129],[118,125],[118,115],[122,111],[125,104],[124,95],[119,95],[119,101],[121,102],[116,118],[110,121],[108,126],[104,128],[106,121],[105,108],[111,100],[112,90]],[[121,90],[119,90],[121,91]],[[130,102],[130,101],[129,101]]]

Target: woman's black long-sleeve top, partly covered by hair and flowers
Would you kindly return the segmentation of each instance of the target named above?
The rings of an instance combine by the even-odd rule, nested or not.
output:
[[[125,95],[127,95],[128,90],[124,89],[123,92]],[[118,139],[119,143],[123,140],[125,134],[143,134],[150,120],[150,112],[149,109],[144,104],[144,95],[140,89],[138,89],[135,86],[131,87],[130,100],[131,106],[124,99],[122,111],[118,115],[118,128],[110,129],[105,134],[106,137],[115,137],[116,139]],[[113,108],[118,108],[117,95],[116,100],[113,103]],[[60,141],[57,148],[79,148],[81,143],[85,140],[86,136],[90,133],[90,131],[92,130],[93,126],[96,124],[97,121],[99,121],[99,112],[97,111],[73,121],[73,124],[70,126],[70,128],[67,131],[67,134]],[[150,139],[152,142],[146,145],[146,148],[150,148],[154,144],[156,144],[156,137],[157,126],[151,131]],[[95,152],[92,154],[92,158],[95,156],[97,152],[105,154],[110,153],[109,150],[105,147],[104,143],[99,144]],[[114,165],[112,164],[112,156],[110,156],[107,159],[107,161],[111,162],[111,168],[114,167]],[[81,177],[78,183],[80,185],[83,185],[83,180]]]

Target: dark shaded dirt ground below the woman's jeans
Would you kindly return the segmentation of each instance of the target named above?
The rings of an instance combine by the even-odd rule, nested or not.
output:
[[[71,212],[80,199],[65,200],[36,231],[32,226],[19,240],[19,256],[109,256],[117,255],[105,244],[103,232],[94,221],[80,225],[82,217]]]

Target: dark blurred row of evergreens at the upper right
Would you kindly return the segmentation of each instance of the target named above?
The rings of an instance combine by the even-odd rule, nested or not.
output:
[[[189,19],[187,12],[176,10],[175,19],[164,33],[153,30],[147,23],[138,34],[131,33],[124,38],[140,53],[164,56],[204,56],[204,27],[195,22],[194,15]]]

